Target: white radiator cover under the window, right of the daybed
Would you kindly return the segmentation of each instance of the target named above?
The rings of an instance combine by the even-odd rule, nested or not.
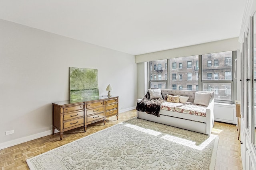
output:
[[[214,121],[237,124],[236,105],[215,102]]]

